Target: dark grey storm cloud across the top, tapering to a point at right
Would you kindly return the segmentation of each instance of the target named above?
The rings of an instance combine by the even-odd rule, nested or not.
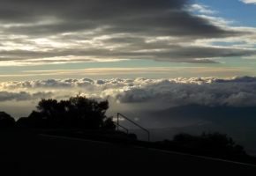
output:
[[[7,28],[10,33],[56,34],[108,26],[104,33],[205,38],[236,34],[209,25],[206,19],[184,11],[188,4],[186,0],[4,1],[0,8],[0,19],[25,24],[44,18],[57,20],[56,24],[51,25],[13,26]]]

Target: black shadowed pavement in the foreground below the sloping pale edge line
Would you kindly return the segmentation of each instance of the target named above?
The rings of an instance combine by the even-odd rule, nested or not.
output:
[[[1,175],[255,175],[256,166],[0,129]]]

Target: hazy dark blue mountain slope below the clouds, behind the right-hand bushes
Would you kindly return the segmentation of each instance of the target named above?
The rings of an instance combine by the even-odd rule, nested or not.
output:
[[[245,146],[248,153],[256,156],[256,106],[192,104],[154,112],[147,119],[152,123],[151,126],[150,124],[146,126],[152,141],[171,140],[180,132],[194,136],[199,136],[202,131],[220,132],[228,134],[238,144]],[[161,125],[154,127],[154,121]],[[135,133],[139,140],[147,140],[145,131],[141,129],[129,129],[129,131]]]

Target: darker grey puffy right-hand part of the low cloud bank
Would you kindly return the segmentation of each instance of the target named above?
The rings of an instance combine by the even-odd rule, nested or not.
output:
[[[194,103],[208,106],[256,105],[255,77],[136,79],[134,82],[139,84],[119,90],[105,90],[102,96],[120,103],[154,101],[176,106]]]

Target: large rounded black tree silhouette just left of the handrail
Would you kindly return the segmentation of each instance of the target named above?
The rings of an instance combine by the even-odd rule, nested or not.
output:
[[[115,129],[116,125],[105,113],[108,100],[96,101],[77,95],[67,100],[41,99],[37,110],[28,116],[29,126]]]

